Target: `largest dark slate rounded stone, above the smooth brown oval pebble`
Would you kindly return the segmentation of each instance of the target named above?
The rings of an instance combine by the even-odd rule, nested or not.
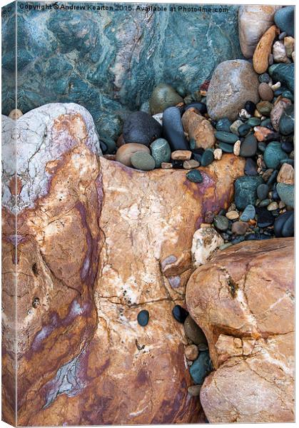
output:
[[[161,135],[160,123],[144,111],[131,113],[123,123],[123,139],[126,143],[140,143],[149,146]]]

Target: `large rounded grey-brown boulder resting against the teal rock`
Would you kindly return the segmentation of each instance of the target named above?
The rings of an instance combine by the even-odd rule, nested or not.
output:
[[[208,114],[212,119],[234,121],[246,101],[258,103],[258,75],[243,59],[223,61],[213,72],[207,92]]]

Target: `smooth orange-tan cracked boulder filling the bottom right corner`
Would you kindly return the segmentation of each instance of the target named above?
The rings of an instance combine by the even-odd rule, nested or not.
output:
[[[293,238],[240,243],[188,281],[215,368],[201,388],[209,422],[294,421],[293,250]]]

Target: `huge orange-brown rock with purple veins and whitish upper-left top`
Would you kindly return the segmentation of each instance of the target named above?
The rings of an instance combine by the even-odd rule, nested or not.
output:
[[[19,424],[203,422],[171,310],[183,305],[193,233],[228,207],[244,161],[223,156],[200,184],[184,170],[143,173],[99,157],[92,124],[74,104],[37,108],[18,121],[24,168],[15,178],[4,162],[4,419],[15,418],[17,270]]]

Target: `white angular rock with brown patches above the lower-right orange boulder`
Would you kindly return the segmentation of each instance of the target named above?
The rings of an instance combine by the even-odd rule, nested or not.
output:
[[[191,248],[193,264],[196,267],[204,265],[211,254],[223,243],[223,238],[214,228],[196,230]]]

